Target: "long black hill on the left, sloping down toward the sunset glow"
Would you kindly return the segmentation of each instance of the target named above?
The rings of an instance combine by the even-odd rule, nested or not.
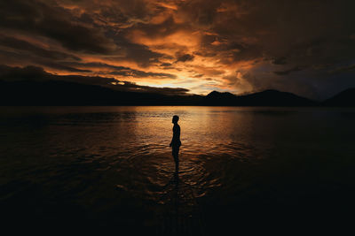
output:
[[[200,100],[200,95],[125,92],[59,80],[0,81],[0,105],[197,105]]]

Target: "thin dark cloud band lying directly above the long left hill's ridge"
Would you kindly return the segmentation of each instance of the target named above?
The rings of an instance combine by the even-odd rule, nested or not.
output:
[[[55,75],[49,72],[45,72],[43,68],[37,66],[26,66],[21,68],[0,65],[0,80],[62,80],[68,82],[98,85],[119,91],[158,93],[163,95],[185,95],[187,92],[189,92],[189,89],[186,88],[155,88],[150,86],[140,86],[130,81],[115,80],[114,78],[106,78],[100,76]]]

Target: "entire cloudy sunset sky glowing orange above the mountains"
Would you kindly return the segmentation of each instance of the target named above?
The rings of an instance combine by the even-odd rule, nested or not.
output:
[[[355,87],[354,9],[347,0],[0,0],[0,79],[321,100]]]

